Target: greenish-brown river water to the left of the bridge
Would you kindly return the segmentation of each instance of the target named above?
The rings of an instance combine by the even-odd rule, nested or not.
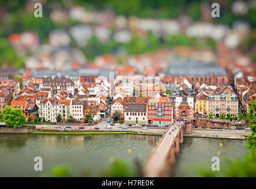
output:
[[[69,165],[76,176],[101,176],[109,158],[143,164],[158,136],[146,135],[0,135],[0,177],[38,177],[54,165]],[[9,149],[12,149],[11,151]],[[130,150],[130,151],[129,151]],[[43,158],[43,172],[34,171],[34,157]],[[20,158],[22,157],[22,164]],[[136,163],[135,163],[136,162]]]

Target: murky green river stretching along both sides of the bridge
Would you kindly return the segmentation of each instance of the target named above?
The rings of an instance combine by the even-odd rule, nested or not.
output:
[[[142,165],[160,136],[146,135],[36,135],[0,134],[0,177],[50,175],[55,165],[68,165],[74,176],[101,177],[110,159],[125,159]],[[222,142],[222,147],[219,145]],[[196,176],[195,165],[209,167],[210,158],[243,157],[246,141],[184,138],[174,176]],[[43,171],[34,171],[34,158],[43,159]]]

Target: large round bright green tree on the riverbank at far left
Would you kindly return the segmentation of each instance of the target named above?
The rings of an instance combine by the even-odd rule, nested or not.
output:
[[[14,128],[21,128],[26,123],[26,118],[20,108],[12,109],[5,119],[6,126],[14,126]]]

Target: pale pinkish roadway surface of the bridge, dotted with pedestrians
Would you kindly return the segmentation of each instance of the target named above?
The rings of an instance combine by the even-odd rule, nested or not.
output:
[[[183,123],[184,122],[176,121],[168,127],[166,133],[160,139],[160,142],[158,142],[157,146],[155,146],[153,152],[151,152],[150,154],[150,157],[148,157],[147,161],[144,164],[142,170],[144,177],[163,176],[163,170],[166,170],[166,162],[170,161],[170,159],[168,160],[168,158],[170,158],[171,147],[173,147],[174,142],[177,139],[177,135],[183,129]],[[169,132],[171,132],[171,134],[169,134]],[[175,157],[172,158],[174,158],[175,161]]]

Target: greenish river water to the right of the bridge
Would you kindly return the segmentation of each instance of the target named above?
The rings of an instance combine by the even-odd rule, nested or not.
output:
[[[211,159],[216,156],[220,158],[222,170],[230,158],[244,157],[245,144],[246,140],[185,137],[177,154],[174,177],[197,177],[200,166],[211,170]]]

